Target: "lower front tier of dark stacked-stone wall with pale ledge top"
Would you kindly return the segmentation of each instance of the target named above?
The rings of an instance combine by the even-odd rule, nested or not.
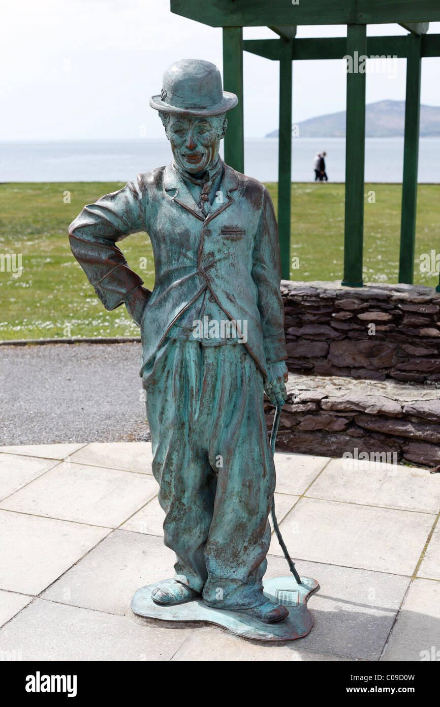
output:
[[[270,430],[273,406],[267,399],[265,410]],[[277,444],[303,454],[342,457],[358,450],[381,460],[388,454],[393,463],[437,467],[440,384],[290,373]]]

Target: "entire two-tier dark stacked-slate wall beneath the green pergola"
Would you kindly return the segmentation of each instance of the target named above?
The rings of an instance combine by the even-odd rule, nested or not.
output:
[[[286,281],[282,294],[290,375],[278,447],[438,467],[440,294]],[[266,419],[270,429],[267,400]]]

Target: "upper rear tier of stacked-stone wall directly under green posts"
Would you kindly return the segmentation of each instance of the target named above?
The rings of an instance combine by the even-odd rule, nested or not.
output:
[[[287,368],[306,375],[440,381],[434,288],[282,281]]]

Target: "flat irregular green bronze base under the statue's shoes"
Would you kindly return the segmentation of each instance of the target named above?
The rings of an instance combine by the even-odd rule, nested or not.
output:
[[[155,604],[151,598],[153,590],[161,584],[160,582],[138,589],[131,600],[131,611],[136,614],[136,617],[146,619],[201,621],[204,624],[215,624],[236,636],[251,638],[254,641],[296,641],[297,638],[303,638],[311,631],[314,621],[307,608],[307,601],[314,592],[319,590],[319,584],[315,579],[302,577],[301,581],[302,584],[297,584],[293,575],[263,580],[264,595],[276,604],[284,604],[289,609],[289,616],[279,624],[263,624],[262,621],[253,619],[244,612],[213,609],[207,607],[201,599],[172,607],[162,607]]]

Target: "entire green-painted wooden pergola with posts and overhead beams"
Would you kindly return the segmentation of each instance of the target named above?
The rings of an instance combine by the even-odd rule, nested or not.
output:
[[[223,29],[223,81],[239,104],[230,112],[225,161],[244,171],[243,51],[280,63],[278,228],[283,277],[290,277],[292,62],[304,59],[398,57],[407,62],[399,282],[412,284],[417,211],[420,77],[423,57],[440,57],[439,0],[170,0],[171,11]],[[408,35],[367,37],[368,24],[398,23]],[[297,25],[347,25],[347,37],[297,39]],[[244,27],[267,26],[278,38],[243,40]],[[347,72],[343,284],[362,286],[366,74]],[[440,292],[439,285],[436,291]]]

